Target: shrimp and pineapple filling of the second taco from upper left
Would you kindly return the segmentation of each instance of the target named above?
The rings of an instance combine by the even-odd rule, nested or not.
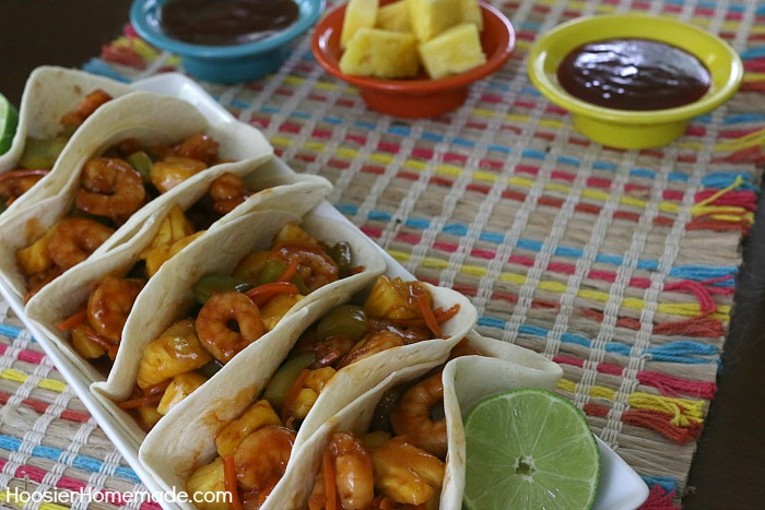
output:
[[[216,163],[217,142],[201,133],[172,146],[143,147],[136,140],[125,140],[86,161],[72,210],[16,252],[26,278],[25,300],[87,259],[152,199]],[[243,193],[246,198],[246,190]],[[214,212],[205,227],[214,216],[220,214]]]

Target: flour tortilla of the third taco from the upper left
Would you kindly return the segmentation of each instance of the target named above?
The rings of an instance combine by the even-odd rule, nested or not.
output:
[[[317,176],[296,175],[275,157],[266,164],[254,167],[239,166],[243,180],[248,189],[258,191],[245,203],[215,222],[210,229],[219,228],[227,222],[254,211],[284,210],[303,215],[318,204],[331,190],[329,181]],[[87,261],[67,271],[54,280],[26,304],[26,315],[36,322],[46,336],[72,361],[83,379],[90,384],[104,379],[104,376],[71,347],[69,334],[57,329],[57,324],[87,303],[97,284],[106,276],[123,276],[139,261],[140,254],[150,245],[164,218],[173,206],[188,210],[207,193],[210,183],[220,174],[217,169],[205,173],[192,189],[175,194],[156,206],[140,230],[125,242],[105,253],[91,257]],[[207,234],[202,234],[204,236]],[[199,238],[192,242],[197,242]],[[145,313],[145,310],[136,310]],[[132,311],[131,311],[132,313]]]

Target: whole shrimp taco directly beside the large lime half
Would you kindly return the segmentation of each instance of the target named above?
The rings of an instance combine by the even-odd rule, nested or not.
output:
[[[552,390],[562,375],[531,351],[470,334],[446,364],[395,372],[322,425],[262,508],[340,509],[355,498],[368,502],[360,508],[459,509],[466,414],[481,396],[499,391]],[[437,419],[432,416],[439,401],[444,417]],[[332,503],[328,495],[334,495]]]

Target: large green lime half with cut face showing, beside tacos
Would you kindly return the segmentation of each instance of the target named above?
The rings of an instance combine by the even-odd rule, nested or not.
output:
[[[464,422],[469,509],[586,509],[600,476],[600,450],[568,400],[516,390],[481,401]]]

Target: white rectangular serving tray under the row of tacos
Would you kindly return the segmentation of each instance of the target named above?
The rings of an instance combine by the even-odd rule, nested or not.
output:
[[[185,99],[195,105],[211,123],[237,122],[237,120],[213,99],[196,82],[179,73],[165,73],[137,81],[132,84],[136,90],[153,92],[172,97]],[[285,171],[292,170],[283,161],[276,158],[276,163],[284,167]],[[357,228],[345,216],[343,216],[329,202],[323,201],[316,210],[315,214],[337,220]],[[376,245],[375,245],[376,246]],[[404,280],[413,280],[401,264],[393,260],[385,250],[379,248],[385,258],[390,276],[400,276]],[[138,459],[138,447],[129,440],[122,426],[109,414],[93,396],[89,383],[79,375],[79,370],[69,361],[63,353],[40,331],[33,321],[28,320],[24,313],[24,305],[12,293],[0,283],[0,293],[9,303],[13,311],[24,322],[34,339],[40,344],[48,357],[54,361],[56,368],[64,377],[69,386],[74,390],[78,398],[87,407],[89,412],[98,422],[106,436],[115,443],[119,452],[128,462],[130,467],[141,478],[146,489],[152,494],[162,493],[157,482],[146,472]],[[639,507],[648,497],[648,487],[635,471],[622,460],[613,450],[598,439],[601,453],[600,483],[598,496],[596,498],[595,510],[633,510]],[[157,498],[157,502],[167,510],[175,510],[177,506],[166,498]]]

